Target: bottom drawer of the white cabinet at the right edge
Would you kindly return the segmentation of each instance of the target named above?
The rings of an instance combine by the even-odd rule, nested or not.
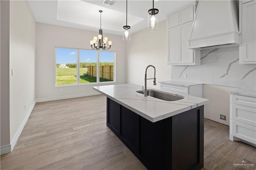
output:
[[[232,121],[232,135],[256,144],[256,127],[242,122]]]

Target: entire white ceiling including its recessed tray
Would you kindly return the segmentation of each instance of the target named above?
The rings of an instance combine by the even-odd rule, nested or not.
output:
[[[100,28],[98,11],[102,10],[104,33],[122,36],[126,23],[126,1],[115,0],[113,6],[103,0],[28,0],[36,22],[96,31]],[[147,27],[147,11],[152,0],[128,0],[128,21],[131,33]],[[166,14],[192,2],[192,0],[158,0],[159,22],[166,20]],[[131,15],[132,14],[132,15]]]

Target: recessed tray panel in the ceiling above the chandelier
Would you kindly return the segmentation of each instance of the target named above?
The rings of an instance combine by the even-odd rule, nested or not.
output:
[[[104,15],[102,15],[102,29],[122,31],[126,13],[84,1],[58,0],[57,20],[100,28],[98,17],[99,10],[104,12]],[[131,21],[129,22],[131,26],[145,20],[144,18],[132,15],[128,15],[128,18],[129,21]]]

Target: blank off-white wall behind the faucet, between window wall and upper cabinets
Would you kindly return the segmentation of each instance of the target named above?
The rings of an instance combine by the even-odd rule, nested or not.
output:
[[[132,28],[131,28],[132,29]],[[170,80],[171,66],[167,65],[166,20],[158,25],[156,32],[147,29],[140,30],[131,35],[127,46],[127,81],[144,86],[145,69],[147,65],[156,67],[156,81]],[[154,69],[148,68],[147,78],[154,77]],[[148,80],[148,87],[159,88]]]

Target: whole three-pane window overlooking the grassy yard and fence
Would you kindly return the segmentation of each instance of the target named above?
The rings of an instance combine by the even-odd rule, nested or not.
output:
[[[114,51],[56,47],[56,85],[113,82],[114,61]]]

